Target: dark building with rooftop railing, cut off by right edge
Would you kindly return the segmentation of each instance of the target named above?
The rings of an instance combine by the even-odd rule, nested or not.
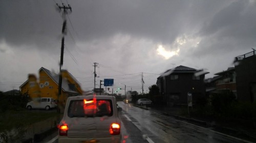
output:
[[[234,64],[238,100],[256,102],[256,50],[237,56]]]

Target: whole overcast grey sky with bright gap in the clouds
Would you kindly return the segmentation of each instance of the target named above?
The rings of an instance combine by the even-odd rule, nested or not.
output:
[[[177,66],[215,73],[256,48],[256,2],[170,0],[0,0],[0,91],[19,89],[41,67],[59,72],[63,18],[56,3],[71,5],[62,69],[96,88],[144,92]],[[119,84],[119,83],[123,84]],[[115,91],[114,89],[114,91]],[[119,93],[123,93],[119,92]]]

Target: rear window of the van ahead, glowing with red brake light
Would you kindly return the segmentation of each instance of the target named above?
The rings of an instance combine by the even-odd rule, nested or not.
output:
[[[73,117],[102,117],[112,116],[111,100],[72,100],[68,107],[68,116]]]

